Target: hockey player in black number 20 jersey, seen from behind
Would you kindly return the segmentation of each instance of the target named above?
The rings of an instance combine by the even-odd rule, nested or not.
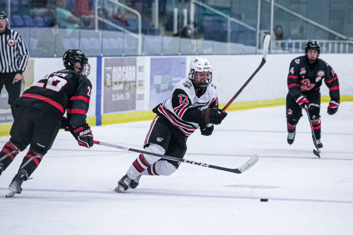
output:
[[[92,91],[87,78],[88,57],[80,50],[68,50],[62,60],[65,69],[48,74],[15,101],[11,138],[0,152],[0,175],[19,151],[30,147],[8,186],[6,197],[21,193],[23,181],[52,147],[60,128],[70,131],[80,146],[90,148],[93,145],[91,128],[86,123]],[[65,111],[67,118],[63,117]]]

